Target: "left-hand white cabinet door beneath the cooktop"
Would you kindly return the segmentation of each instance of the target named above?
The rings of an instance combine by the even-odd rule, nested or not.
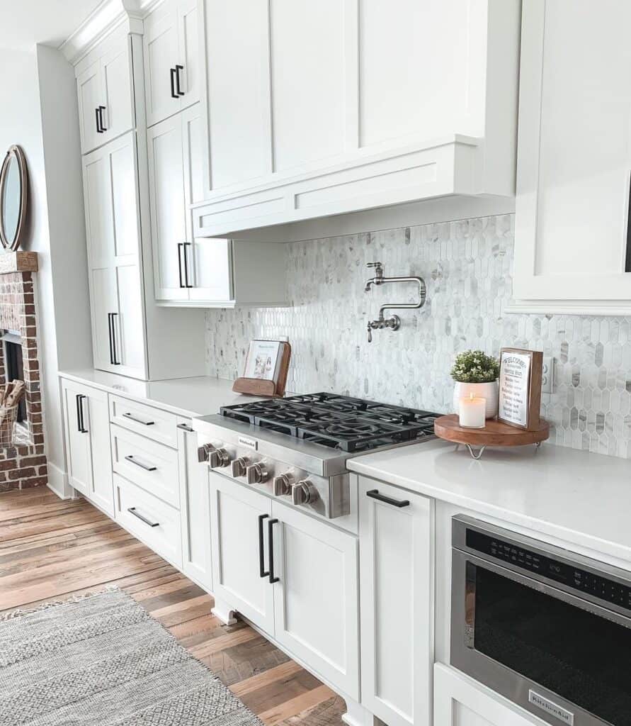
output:
[[[274,589],[269,576],[262,576],[260,570],[261,563],[263,571],[269,565],[270,499],[212,471],[208,477],[214,593],[265,632],[273,634]],[[260,532],[263,533],[262,549]]]

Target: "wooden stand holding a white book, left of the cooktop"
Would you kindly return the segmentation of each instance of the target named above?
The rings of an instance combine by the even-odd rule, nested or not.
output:
[[[243,375],[232,390],[254,396],[283,396],[291,355],[292,347],[286,340],[252,340]]]

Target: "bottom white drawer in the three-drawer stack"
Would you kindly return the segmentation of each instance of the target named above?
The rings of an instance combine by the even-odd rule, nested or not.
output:
[[[178,568],[182,566],[180,513],[114,475],[116,521]]]

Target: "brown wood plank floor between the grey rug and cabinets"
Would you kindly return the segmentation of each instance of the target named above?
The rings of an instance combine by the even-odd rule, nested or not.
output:
[[[0,611],[117,584],[271,726],[342,723],[342,698],[83,499],[49,489],[0,494]]]

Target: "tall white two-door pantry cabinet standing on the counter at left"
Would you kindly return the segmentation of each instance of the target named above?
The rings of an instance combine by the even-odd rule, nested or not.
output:
[[[136,136],[83,157],[94,365],[147,377]]]

